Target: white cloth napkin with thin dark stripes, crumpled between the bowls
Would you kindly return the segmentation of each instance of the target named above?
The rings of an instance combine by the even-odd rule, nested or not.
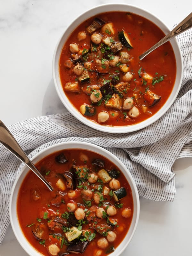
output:
[[[140,196],[151,200],[174,199],[172,164],[192,157],[192,30],[178,36],[184,77],[171,108],[148,127],[131,133],[96,131],[70,113],[41,116],[13,124],[9,130],[29,158],[48,146],[64,141],[84,141],[108,149],[131,172]],[[0,145],[0,243],[9,226],[9,200],[13,183],[24,164]]]

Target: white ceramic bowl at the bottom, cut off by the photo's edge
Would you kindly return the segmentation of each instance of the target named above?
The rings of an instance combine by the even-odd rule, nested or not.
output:
[[[124,237],[124,240],[116,248],[116,251],[110,254],[110,256],[118,256],[119,254],[121,254],[123,252],[123,250],[126,248],[126,246],[131,241],[132,236],[137,227],[138,220],[139,220],[139,212],[140,212],[139,195],[138,195],[137,187],[134,183],[134,180],[133,180],[130,172],[127,170],[127,168],[124,166],[124,164],[122,164],[122,162],[116,156],[114,156],[113,154],[111,154],[109,151],[107,151],[104,148],[95,146],[90,143],[85,143],[85,142],[74,142],[73,141],[73,142],[59,143],[59,144],[53,145],[51,147],[48,147],[48,148],[42,150],[41,152],[36,154],[36,156],[34,156],[31,160],[35,164],[35,163],[39,162],[42,158],[44,158],[45,156],[47,156],[49,154],[52,154],[53,152],[63,150],[63,149],[68,149],[68,148],[87,149],[87,150],[94,151],[94,152],[108,158],[110,161],[112,161],[114,164],[116,164],[116,166],[123,172],[125,178],[129,182],[129,185],[132,190],[132,197],[133,197],[133,204],[134,204],[133,218],[132,218],[131,226],[128,230],[127,235]],[[24,167],[21,170],[19,176],[17,177],[17,179],[13,185],[11,198],[10,198],[10,220],[11,220],[13,232],[14,232],[18,242],[23,247],[23,249],[30,256],[40,256],[43,254],[38,252],[25,238],[25,236],[20,228],[18,217],[17,217],[17,196],[18,196],[18,192],[19,192],[20,186],[22,184],[22,181],[26,177],[27,173],[28,173],[28,168]]]

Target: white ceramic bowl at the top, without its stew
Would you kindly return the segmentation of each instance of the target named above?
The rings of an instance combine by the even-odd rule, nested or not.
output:
[[[87,20],[88,18],[102,13],[102,12],[110,12],[110,11],[127,11],[127,12],[133,12],[140,16],[143,16],[147,18],[148,20],[151,20],[153,23],[155,23],[165,34],[167,34],[169,29],[167,26],[159,20],[157,17],[155,17],[153,14],[151,14],[148,11],[145,11],[139,7],[128,5],[128,4],[104,4],[97,7],[94,7],[86,12],[84,12],[82,15],[80,15],[76,20],[74,20],[69,27],[64,32],[63,36],[60,38],[59,43],[56,46],[54,55],[53,55],[53,62],[52,62],[52,73],[53,73],[53,80],[56,87],[56,91],[60,97],[60,100],[64,104],[64,106],[68,109],[69,112],[73,116],[75,116],[78,120],[80,120],[82,123],[103,131],[103,132],[112,132],[112,133],[125,133],[125,132],[133,132],[140,130],[149,124],[154,123],[157,119],[159,119],[163,114],[170,108],[174,100],[176,99],[176,96],[180,90],[182,77],[183,77],[183,61],[182,61],[182,55],[180,52],[179,44],[177,43],[176,39],[172,39],[170,43],[172,44],[173,51],[175,53],[176,63],[177,63],[177,70],[176,70],[176,80],[175,84],[172,90],[172,93],[170,94],[168,100],[165,102],[164,106],[153,116],[149,117],[147,120],[140,122],[138,124],[128,125],[128,126],[107,126],[107,125],[101,125],[97,124],[86,117],[82,116],[81,113],[70,103],[68,98],[66,97],[61,82],[60,82],[60,75],[59,75],[59,60],[60,60],[60,54],[61,50],[63,48],[63,45],[65,44],[66,40],[70,36],[71,32],[84,20]]]

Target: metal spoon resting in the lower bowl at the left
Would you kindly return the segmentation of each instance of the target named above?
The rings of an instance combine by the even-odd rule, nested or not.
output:
[[[0,120],[0,142],[7,148],[13,155],[15,155],[21,162],[26,164],[29,169],[31,169],[35,174],[41,179],[44,184],[49,188],[49,190],[53,191],[52,186],[49,184],[47,180],[45,180],[44,176],[37,170],[35,165],[31,162],[25,152],[22,150],[18,142],[15,140],[11,132],[4,125],[4,123]]]

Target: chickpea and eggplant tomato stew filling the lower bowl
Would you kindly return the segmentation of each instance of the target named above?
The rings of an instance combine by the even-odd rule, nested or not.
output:
[[[115,251],[133,216],[132,191],[117,166],[95,152],[67,149],[36,167],[54,190],[33,172],[20,187],[17,214],[29,243],[45,256]]]

